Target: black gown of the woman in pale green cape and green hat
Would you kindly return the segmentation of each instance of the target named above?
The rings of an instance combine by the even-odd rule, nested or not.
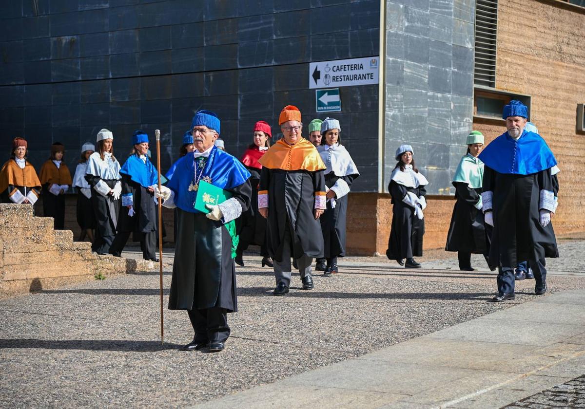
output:
[[[491,226],[484,224],[483,212],[474,206],[481,196],[482,189],[472,189],[464,182],[453,182],[453,186],[456,202],[445,250],[488,254]]]

